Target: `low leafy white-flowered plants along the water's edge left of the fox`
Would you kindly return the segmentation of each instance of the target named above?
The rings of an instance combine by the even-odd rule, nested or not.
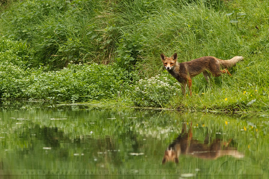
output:
[[[129,92],[135,72],[117,65],[68,64],[67,68],[46,71],[30,69],[27,45],[0,38],[0,95],[2,98],[51,99],[82,102],[89,99],[117,99]]]

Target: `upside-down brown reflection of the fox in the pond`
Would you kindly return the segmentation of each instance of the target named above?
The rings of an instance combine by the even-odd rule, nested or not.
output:
[[[229,141],[214,139],[213,141],[210,141],[210,144],[208,144],[209,135],[207,135],[204,143],[199,143],[198,140],[192,139],[192,125],[190,125],[188,132],[186,128],[186,123],[183,123],[181,134],[164,152],[163,164],[168,161],[178,163],[178,157],[180,155],[189,155],[204,159],[216,159],[225,155],[230,155],[235,158],[244,157],[244,154],[238,152],[235,147],[229,146],[232,139]]]

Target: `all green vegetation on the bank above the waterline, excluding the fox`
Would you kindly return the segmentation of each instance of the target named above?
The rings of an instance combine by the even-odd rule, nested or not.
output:
[[[2,98],[269,110],[269,1],[7,2],[0,19]],[[192,97],[183,97],[159,57],[175,52],[179,62],[207,55],[245,59],[230,69],[232,77],[213,78],[212,86],[196,76]],[[145,79],[156,75],[162,82]]]

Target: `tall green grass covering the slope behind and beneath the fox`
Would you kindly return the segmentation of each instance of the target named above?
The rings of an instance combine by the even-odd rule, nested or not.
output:
[[[232,77],[213,78],[210,87],[198,75],[191,98],[176,95],[162,106],[263,111],[268,109],[268,8],[268,0],[25,0],[2,9],[0,30],[26,42],[28,67],[47,70],[71,61],[96,62],[149,78],[166,73],[160,53],[177,52],[179,62],[242,55],[230,69]]]

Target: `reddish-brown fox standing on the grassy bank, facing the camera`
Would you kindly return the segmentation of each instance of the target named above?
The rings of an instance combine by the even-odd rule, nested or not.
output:
[[[230,72],[227,68],[232,67],[238,61],[244,59],[242,56],[235,56],[230,60],[221,60],[212,56],[205,56],[197,58],[191,61],[178,63],[178,54],[174,53],[171,58],[166,57],[161,53],[161,59],[165,69],[181,83],[181,90],[183,94],[186,93],[186,85],[189,88],[190,96],[192,95],[192,77],[203,72],[204,78],[209,82],[209,72],[214,76],[220,76],[222,73]],[[224,67],[224,70],[220,70],[220,67]]]

